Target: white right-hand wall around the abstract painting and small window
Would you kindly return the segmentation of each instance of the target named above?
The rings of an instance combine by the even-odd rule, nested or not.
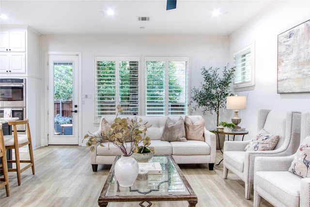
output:
[[[255,41],[255,89],[237,93],[248,97],[247,109],[239,111],[240,126],[249,130],[245,139],[255,138],[260,130],[258,109],[310,111],[309,93],[277,94],[278,35],[309,20],[309,8],[310,1],[275,1],[230,35],[230,58],[233,52]],[[233,111],[231,113],[233,116]]]

